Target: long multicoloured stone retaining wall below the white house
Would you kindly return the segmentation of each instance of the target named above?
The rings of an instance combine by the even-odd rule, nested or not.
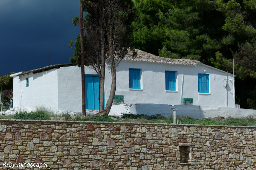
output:
[[[255,138],[245,126],[2,119],[0,169],[256,170]]]

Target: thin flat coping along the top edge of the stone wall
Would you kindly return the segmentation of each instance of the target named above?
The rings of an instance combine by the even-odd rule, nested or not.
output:
[[[256,126],[228,126],[228,125],[204,125],[204,124],[173,124],[173,123],[138,123],[138,122],[97,122],[97,121],[67,121],[67,120],[23,120],[23,119],[0,119],[1,121],[16,122],[59,122],[59,123],[100,123],[100,124],[143,124],[143,125],[172,125],[172,126],[206,126],[206,127],[246,127],[256,128]]]

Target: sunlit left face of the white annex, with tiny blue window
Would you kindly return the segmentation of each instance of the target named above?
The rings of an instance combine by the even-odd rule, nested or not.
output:
[[[26,78],[29,86],[26,87]],[[14,77],[14,103],[13,107],[33,110],[37,107],[58,109],[58,79],[57,69],[40,73],[29,73]],[[21,95],[21,97],[20,97]]]

